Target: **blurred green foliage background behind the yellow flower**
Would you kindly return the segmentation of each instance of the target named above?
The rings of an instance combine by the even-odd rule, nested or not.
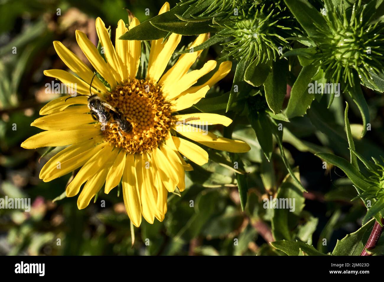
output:
[[[171,7],[176,3],[169,2]],[[137,0],[13,0],[0,4],[0,198],[31,198],[32,203],[29,213],[0,209],[0,254],[297,255],[299,250],[305,254],[344,254],[334,247],[337,239],[349,233],[358,238],[356,246],[362,248],[361,242],[366,241],[373,224],[370,221],[361,227],[366,208],[359,201],[350,201],[357,195],[356,190],[341,170],[324,170],[321,160],[313,155],[332,152],[349,157],[342,99],[334,99],[329,110],[326,97],[315,100],[307,115],[290,122],[274,116],[284,127],[283,143],[279,144],[274,136],[268,154],[261,149],[264,141],[257,138],[255,125],[250,125],[247,112],[243,112],[244,105],[252,103],[248,98],[235,102],[232,110],[236,110],[228,112],[231,118],[234,112],[240,113],[235,122],[226,129],[215,127],[214,131],[241,139],[252,150],[237,156],[208,150],[210,162],[202,167],[194,165],[194,171],[187,174],[185,191],[169,195],[164,221],[143,221],[140,228],[134,228],[133,246],[129,218],[118,188],[109,195],[99,194],[93,204],[81,211],[75,198],[52,202],[61,198],[71,175],[44,183],[38,174],[58,149],[41,157],[44,149],[20,148],[23,140],[39,132],[30,124],[43,104],[55,97],[44,92],[49,79],[43,76],[43,70],[65,68],[52,41],[64,41],[76,51],[74,30],[85,30],[94,38],[96,16],[114,28],[120,18],[127,21],[125,7],[144,21],[156,15],[162,4]],[[61,15],[57,15],[58,8]],[[146,8],[149,16],[145,15]],[[190,42],[190,38],[185,42]],[[16,54],[12,53],[13,47],[17,48]],[[221,51],[222,46],[212,46],[202,53],[197,66],[207,58],[217,58]],[[234,72],[195,107],[224,114],[233,78]],[[252,91],[250,97],[260,94]],[[359,110],[354,105],[349,115],[351,130],[358,152],[366,158],[379,157],[384,155],[384,99],[369,89],[365,91],[372,130],[361,139],[362,127],[354,124],[359,122]],[[279,145],[284,147],[285,156]],[[234,161],[239,164],[235,171]],[[291,174],[287,165],[293,168]],[[309,193],[302,192],[292,175],[301,180]],[[240,195],[238,186],[243,188]],[[263,208],[263,199],[270,195],[295,198],[295,211]],[[244,199],[248,199],[247,203]],[[298,240],[300,244],[287,249],[281,240]],[[279,242],[272,247],[271,241]],[[343,244],[345,241],[338,242],[338,246]],[[382,249],[383,242],[379,241],[377,254]]]

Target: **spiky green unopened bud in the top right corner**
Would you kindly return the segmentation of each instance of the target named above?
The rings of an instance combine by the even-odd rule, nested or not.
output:
[[[353,87],[354,74],[372,82],[371,73],[384,67],[382,54],[384,23],[369,23],[361,0],[353,5],[351,15],[341,4],[325,16],[329,31],[318,28],[323,36],[312,40],[317,45],[315,62],[319,62],[326,79]]]

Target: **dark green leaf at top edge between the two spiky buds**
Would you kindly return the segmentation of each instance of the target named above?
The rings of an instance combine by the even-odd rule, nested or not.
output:
[[[314,24],[323,30],[329,30],[323,15],[307,0],[284,0],[284,2],[309,36],[319,35]]]

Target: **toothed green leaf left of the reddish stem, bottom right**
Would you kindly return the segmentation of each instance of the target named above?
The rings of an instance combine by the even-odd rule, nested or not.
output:
[[[371,233],[374,220],[364,224],[358,231],[348,234],[343,239],[338,240],[333,249],[333,256],[359,256],[366,244],[364,234]],[[369,235],[368,235],[369,236]]]

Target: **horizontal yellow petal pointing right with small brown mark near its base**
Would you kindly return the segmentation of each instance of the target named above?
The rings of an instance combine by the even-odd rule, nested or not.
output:
[[[208,114],[208,113],[196,113],[186,115],[174,115],[174,119],[180,122],[196,125],[212,125],[222,124],[228,126],[232,123],[232,119],[225,115]]]

